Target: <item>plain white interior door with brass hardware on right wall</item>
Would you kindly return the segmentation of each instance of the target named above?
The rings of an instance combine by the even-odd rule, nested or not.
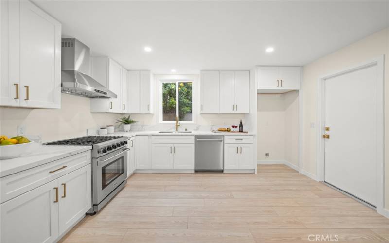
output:
[[[377,65],[325,80],[324,181],[377,203]]]

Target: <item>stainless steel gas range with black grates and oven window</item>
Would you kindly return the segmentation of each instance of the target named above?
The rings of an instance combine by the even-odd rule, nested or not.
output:
[[[127,137],[85,136],[49,142],[45,145],[92,146],[92,203],[88,213],[95,214],[127,183]]]

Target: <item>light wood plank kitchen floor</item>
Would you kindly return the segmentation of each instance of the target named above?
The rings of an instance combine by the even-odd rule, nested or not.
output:
[[[315,235],[388,242],[389,221],[287,166],[259,165],[258,174],[134,174],[61,242],[303,243]]]

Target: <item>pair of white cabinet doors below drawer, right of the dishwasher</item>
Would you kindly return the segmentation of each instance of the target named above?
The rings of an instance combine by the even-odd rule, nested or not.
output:
[[[224,145],[224,169],[254,169],[253,145],[230,143]]]

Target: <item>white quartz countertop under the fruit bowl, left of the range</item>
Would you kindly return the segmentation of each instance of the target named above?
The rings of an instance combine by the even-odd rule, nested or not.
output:
[[[35,143],[31,145],[30,152],[18,158],[0,160],[0,177],[15,174],[91,149],[92,146],[56,146]]]

